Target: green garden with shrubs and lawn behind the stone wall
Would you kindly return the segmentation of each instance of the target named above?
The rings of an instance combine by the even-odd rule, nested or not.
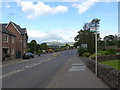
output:
[[[111,66],[112,68],[116,70],[120,70],[120,63],[119,63],[119,49],[101,49],[98,51],[98,62],[101,64],[105,64],[107,66]],[[95,60],[96,54],[89,53],[87,49],[84,49],[82,47],[78,48],[78,55],[83,57],[89,57],[93,60]]]

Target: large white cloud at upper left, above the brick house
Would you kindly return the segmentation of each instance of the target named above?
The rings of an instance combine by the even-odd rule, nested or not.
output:
[[[28,18],[36,18],[48,14],[66,13],[68,11],[68,7],[66,6],[59,5],[56,7],[50,7],[43,2],[37,2],[34,4],[30,1],[17,1],[17,3],[20,4],[22,11],[27,14]]]

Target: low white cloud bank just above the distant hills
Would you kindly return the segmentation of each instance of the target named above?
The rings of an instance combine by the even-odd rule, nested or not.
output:
[[[35,39],[38,43],[42,42],[53,42],[53,41],[61,41],[61,42],[74,42],[74,37],[77,35],[78,30],[52,30],[49,32],[41,32],[41,31],[33,31],[27,30],[29,36],[29,42]],[[70,40],[71,39],[71,40]]]

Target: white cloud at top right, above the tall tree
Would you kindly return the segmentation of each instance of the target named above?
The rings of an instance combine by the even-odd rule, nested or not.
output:
[[[95,2],[98,2],[99,0],[87,0],[85,2],[82,2],[80,4],[73,4],[72,6],[79,9],[79,14],[85,13],[88,9],[90,9]]]

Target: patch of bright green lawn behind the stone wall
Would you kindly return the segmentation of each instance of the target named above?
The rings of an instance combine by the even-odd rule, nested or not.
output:
[[[119,63],[118,63],[118,61],[119,61]],[[111,66],[116,70],[120,70],[120,59],[119,60],[101,61],[100,63]]]

